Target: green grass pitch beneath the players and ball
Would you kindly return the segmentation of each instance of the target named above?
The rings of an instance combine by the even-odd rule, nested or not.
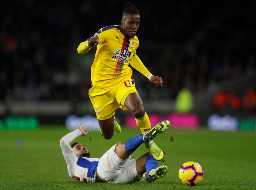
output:
[[[165,177],[147,184],[80,183],[67,174],[59,141],[69,131],[64,126],[41,127],[35,131],[0,131],[0,189],[256,189],[256,133],[213,132],[169,129],[154,139],[166,153]],[[92,157],[101,157],[112,145],[126,141],[140,130],[122,128],[111,140],[100,132],[75,141],[85,144]],[[169,142],[170,135],[175,142]],[[142,144],[132,158],[147,152]],[[198,162],[202,182],[187,187],[179,181],[179,167],[186,161]]]

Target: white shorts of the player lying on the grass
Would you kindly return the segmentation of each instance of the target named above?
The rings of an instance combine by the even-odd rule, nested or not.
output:
[[[97,167],[97,173],[102,180],[108,183],[132,183],[139,181],[139,177],[136,170],[136,160],[131,156],[126,159],[120,159],[115,153],[115,144],[111,147],[99,160]]]

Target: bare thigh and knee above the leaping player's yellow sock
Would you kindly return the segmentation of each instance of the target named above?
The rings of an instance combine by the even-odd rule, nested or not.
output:
[[[141,118],[145,114],[142,100],[136,92],[128,94],[124,106],[130,110],[135,118]]]

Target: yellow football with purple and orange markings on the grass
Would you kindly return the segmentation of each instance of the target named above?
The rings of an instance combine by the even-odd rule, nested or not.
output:
[[[179,168],[179,180],[187,186],[198,185],[203,179],[203,168],[196,162],[186,162]]]

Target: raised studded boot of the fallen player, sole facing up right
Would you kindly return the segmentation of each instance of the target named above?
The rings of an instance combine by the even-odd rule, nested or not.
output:
[[[166,131],[170,126],[170,122],[168,120],[164,120],[156,124],[144,137],[143,140],[145,142],[150,142],[156,136],[161,134],[162,132]]]

